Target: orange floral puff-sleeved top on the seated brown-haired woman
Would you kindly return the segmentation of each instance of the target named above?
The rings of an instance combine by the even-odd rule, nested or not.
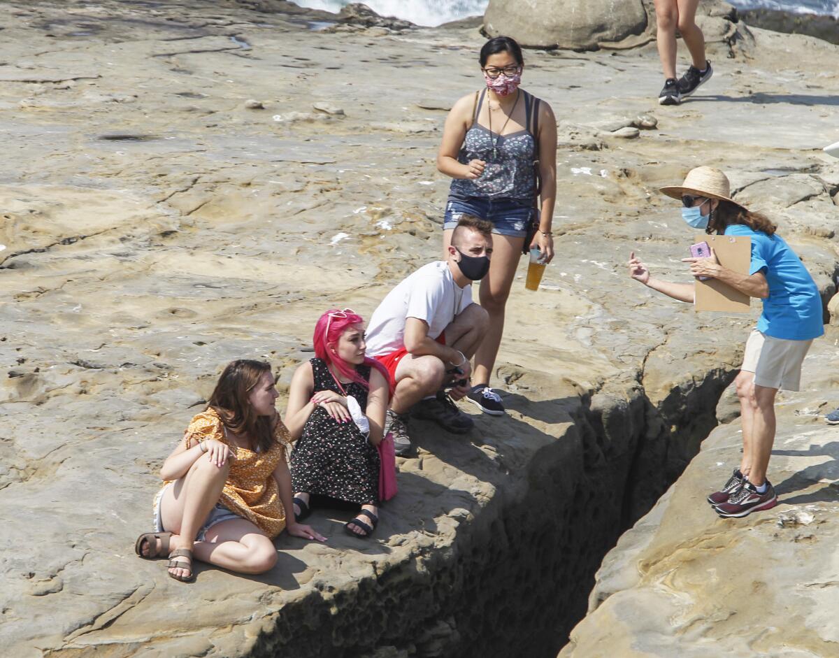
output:
[[[268,452],[253,452],[229,441],[218,413],[208,409],[190,421],[184,433],[185,447],[189,449],[196,442],[208,439],[227,444],[236,457],[230,462],[230,472],[218,502],[258,525],[272,539],[279,535],[285,527],[285,509],[273,473],[279,460],[285,460],[286,447],[291,443],[282,421],[277,420],[274,445]]]

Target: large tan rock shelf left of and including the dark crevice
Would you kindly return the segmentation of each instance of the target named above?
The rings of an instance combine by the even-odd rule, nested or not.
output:
[[[654,45],[528,52],[560,122],[559,256],[537,293],[524,264],[514,283],[510,413],[461,437],[412,424],[419,456],[373,541],[318,510],[326,545],[281,535],[263,577],[201,567],[185,586],[133,555],[154,473],[224,363],[268,358],[283,389],[320,312],[369,316],[437,257],[435,151],[446,107],[482,84],[482,37],[279,0],[0,17],[10,655],[555,655],[602,555],[716,424],[757,315],[697,316],[626,279],[630,249],[685,278],[693,236],[659,185],[721,165],[836,292],[839,164],[818,150],[836,77],[810,87],[834,47],[759,29],[752,59],[711,44],[725,75],[666,110]]]

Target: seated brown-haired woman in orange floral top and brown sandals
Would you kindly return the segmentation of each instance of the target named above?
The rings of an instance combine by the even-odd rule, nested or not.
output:
[[[308,525],[286,520],[292,509],[286,460],[289,431],[274,408],[269,363],[230,363],[205,411],[160,469],[164,487],[154,501],[155,532],[138,537],[141,557],[169,555],[169,576],[194,580],[192,559],[234,572],[274,567],[272,541],[289,535],[325,541]]]

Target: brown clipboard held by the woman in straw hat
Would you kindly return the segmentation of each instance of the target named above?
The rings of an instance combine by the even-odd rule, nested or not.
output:
[[[748,276],[752,264],[752,238],[748,235],[698,235],[696,242],[706,242],[715,253],[722,267]],[[724,311],[748,313],[751,298],[730,285],[707,279],[696,279],[694,311]]]

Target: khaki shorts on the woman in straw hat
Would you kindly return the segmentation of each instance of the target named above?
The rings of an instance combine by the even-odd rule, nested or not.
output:
[[[746,341],[746,353],[740,367],[754,373],[754,383],[768,389],[800,390],[801,363],[810,349],[810,341],[773,338],[753,329]]]

